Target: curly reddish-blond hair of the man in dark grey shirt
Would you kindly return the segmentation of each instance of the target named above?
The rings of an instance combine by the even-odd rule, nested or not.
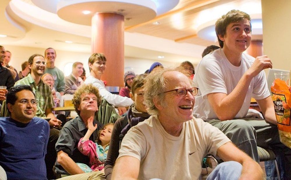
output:
[[[95,94],[97,97],[97,105],[99,106],[101,103],[101,96],[99,94],[99,90],[97,87],[93,86],[93,84],[84,84],[80,86],[74,93],[72,102],[74,104],[75,111],[80,116],[80,110],[78,110],[78,107],[81,104],[81,96],[82,94]]]

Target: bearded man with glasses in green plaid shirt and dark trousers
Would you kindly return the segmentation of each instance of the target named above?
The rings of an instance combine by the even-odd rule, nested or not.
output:
[[[47,179],[56,179],[55,173],[52,170],[54,162],[56,161],[56,150],[54,147],[60,133],[56,128],[60,128],[62,122],[52,113],[52,107],[54,107],[52,91],[49,85],[45,84],[41,79],[41,76],[45,71],[45,65],[45,58],[42,55],[32,55],[28,60],[28,66],[31,73],[17,81],[15,85],[25,84],[32,88],[33,93],[36,94],[36,100],[38,101],[36,116],[48,119],[51,128],[49,133],[49,143],[47,146],[47,155],[45,157]]]

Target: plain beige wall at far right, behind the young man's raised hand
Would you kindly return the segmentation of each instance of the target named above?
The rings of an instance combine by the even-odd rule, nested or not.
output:
[[[289,70],[291,1],[262,0],[263,49],[271,58],[273,68]]]

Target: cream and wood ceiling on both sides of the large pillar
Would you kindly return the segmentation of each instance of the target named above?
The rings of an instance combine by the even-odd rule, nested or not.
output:
[[[165,57],[163,61],[189,60],[197,64],[205,46],[217,44],[215,40],[198,37],[199,27],[201,29],[207,23],[213,24],[215,19],[228,11],[222,9],[218,14],[205,15],[205,10],[212,8],[214,12],[213,8],[221,6],[232,9],[235,4],[237,9],[241,7],[244,10],[242,4],[250,2],[260,4],[260,0],[180,0],[178,6],[170,12],[158,15],[151,21],[125,27],[125,56],[158,61],[157,56],[161,55]],[[196,29],[190,28],[198,23],[197,18],[201,19],[203,13],[210,16],[205,20],[207,22],[200,22]],[[194,17],[189,17],[190,15]],[[184,22],[184,29],[177,29],[178,25],[173,26],[173,17],[179,17],[178,21]],[[261,14],[254,12],[251,17],[260,19]],[[195,22],[193,18],[196,18]],[[160,25],[153,25],[153,21],[159,21]],[[57,50],[85,53],[91,51],[91,26],[65,21],[54,13],[38,8],[31,0],[1,0],[0,23],[0,34],[8,35],[5,38],[0,37],[1,45],[53,47]],[[255,38],[262,37],[259,33]],[[74,43],[68,44],[64,41]]]

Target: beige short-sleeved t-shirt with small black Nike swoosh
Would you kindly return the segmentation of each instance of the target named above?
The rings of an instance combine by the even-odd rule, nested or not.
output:
[[[183,124],[179,137],[168,134],[157,116],[132,127],[121,143],[119,157],[141,161],[138,179],[199,179],[202,158],[216,155],[230,140],[216,127],[193,118]]]

